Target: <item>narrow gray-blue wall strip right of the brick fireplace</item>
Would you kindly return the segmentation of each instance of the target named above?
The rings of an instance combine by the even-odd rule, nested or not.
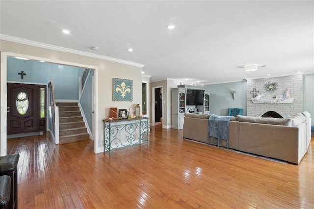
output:
[[[314,125],[314,74],[303,75],[303,110],[311,114]]]

